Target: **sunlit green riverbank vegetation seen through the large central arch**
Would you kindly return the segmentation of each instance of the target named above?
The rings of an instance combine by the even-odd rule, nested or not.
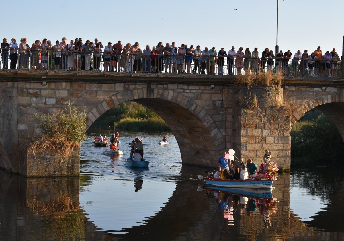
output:
[[[133,101],[126,101],[101,115],[91,129],[121,129],[133,131],[170,131],[155,112]]]

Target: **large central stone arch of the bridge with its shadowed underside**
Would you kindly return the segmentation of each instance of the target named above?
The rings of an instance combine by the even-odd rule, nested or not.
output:
[[[89,110],[87,126],[110,108],[126,101],[147,106],[168,124],[178,142],[183,163],[213,166],[214,155],[218,156],[219,150],[225,148],[225,110],[223,119],[215,121],[200,103],[184,93],[163,87],[142,86],[113,93]]]

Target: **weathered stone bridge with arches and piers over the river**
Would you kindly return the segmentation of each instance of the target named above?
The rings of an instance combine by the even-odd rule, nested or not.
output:
[[[34,114],[62,110],[66,101],[86,108],[88,127],[123,102],[147,106],[171,128],[185,164],[215,166],[229,148],[244,160],[270,149],[279,166],[290,169],[291,125],[314,107],[344,139],[344,82],[335,78],[290,78],[281,87],[253,88],[226,75],[16,71],[1,73],[0,80],[0,167],[24,176],[50,176],[21,146],[41,133]],[[68,174],[71,164],[65,163],[51,176],[78,175],[78,168]]]

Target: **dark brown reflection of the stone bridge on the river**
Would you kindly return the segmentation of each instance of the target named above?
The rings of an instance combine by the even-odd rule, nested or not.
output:
[[[273,194],[282,201],[278,203],[278,210],[274,214],[279,221],[271,223],[269,229],[264,229],[264,220],[236,213],[234,214],[236,228],[229,237],[226,232],[228,222],[219,222],[221,220],[219,216],[223,219],[223,214],[217,209],[214,199],[208,198],[204,191],[197,191],[198,181],[191,181],[191,183],[179,183],[166,206],[154,217],[142,220],[144,225],[124,228],[120,231],[121,234],[111,234],[99,230],[98,228],[102,227],[94,226],[92,220],[84,220],[84,213],[78,206],[79,177],[53,180],[26,179],[9,174],[0,177],[2,220],[0,240],[22,240],[24,236],[30,239],[30,235],[37,237],[37,233],[40,233],[37,231],[44,230],[36,230],[36,227],[31,227],[27,223],[34,223],[35,217],[40,215],[43,219],[37,221],[45,222],[45,231],[49,230],[52,238],[63,238],[63,235],[70,234],[72,229],[74,235],[84,237],[84,240],[224,240],[240,239],[243,236],[251,240],[299,239],[303,232],[312,232],[311,227],[326,227],[331,231],[325,222],[329,219],[341,220],[343,216],[342,211],[337,211],[343,210],[339,207],[342,206],[344,191],[339,190],[336,199],[331,203],[331,208],[326,209],[319,219],[313,217],[314,220],[308,222],[311,227],[305,227],[297,218],[297,214],[289,211],[288,176],[287,179],[280,179],[274,185],[276,189]],[[74,218],[68,216],[71,212],[74,213],[72,216]],[[184,213],[193,215],[183,215]],[[333,232],[338,232],[338,226]],[[329,235],[333,233],[323,232],[319,240],[328,240],[331,238]]]

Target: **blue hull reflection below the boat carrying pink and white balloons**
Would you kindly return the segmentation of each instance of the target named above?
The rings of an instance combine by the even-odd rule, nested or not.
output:
[[[233,193],[235,195],[250,196],[256,198],[273,198],[271,191],[261,188],[225,188],[205,186],[205,189],[213,191],[223,191],[227,193]]]

